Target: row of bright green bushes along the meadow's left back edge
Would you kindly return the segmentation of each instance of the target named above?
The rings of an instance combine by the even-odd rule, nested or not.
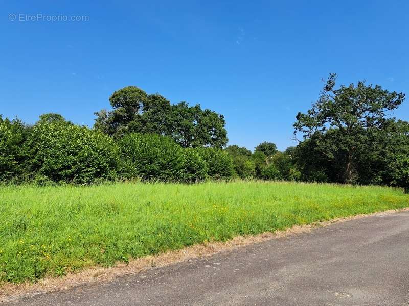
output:
[[[157,134],[129,133],[113,139],[60,116],[26,126],[0,118],[0,180],[68,182],[142,179],[196,182],[229,179],[232,160],[219,148],[183,148]]]

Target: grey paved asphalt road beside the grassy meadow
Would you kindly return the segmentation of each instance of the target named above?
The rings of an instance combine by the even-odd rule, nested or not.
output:
[[[409,305],[409,211],[10,304]]]

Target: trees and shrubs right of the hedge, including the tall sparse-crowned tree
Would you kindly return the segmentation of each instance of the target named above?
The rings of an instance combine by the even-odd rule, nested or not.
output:
[[[229,146],[241,177],[307,182],[387,185],[409,189],[409,123],[392,117],[404,101],[365,82],[335,88],[330,74],[319,99],[298,113],[295,147],[276,151],[263,143],[255,152]]]

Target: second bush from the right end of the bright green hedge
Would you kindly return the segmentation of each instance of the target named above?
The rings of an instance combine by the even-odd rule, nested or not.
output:
[[[179,173],[179,180],[183,182],[203,181],[208,176],[208,164],[203,159],[199,149],[183,149],[183,166]]]

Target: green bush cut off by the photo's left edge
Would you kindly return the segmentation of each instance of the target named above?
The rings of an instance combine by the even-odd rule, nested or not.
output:
[[[24,143],[24,124],[0,116],[0,181],[21,173],[21,145]]]

